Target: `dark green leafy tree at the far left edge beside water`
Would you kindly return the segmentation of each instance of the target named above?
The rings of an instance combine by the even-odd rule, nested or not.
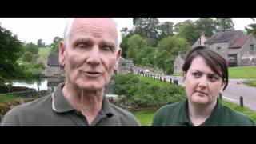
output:
[[[16,34],[0,25],[0,78],[12,78],[18,74],[17,59],[22,56],[22,42]]]

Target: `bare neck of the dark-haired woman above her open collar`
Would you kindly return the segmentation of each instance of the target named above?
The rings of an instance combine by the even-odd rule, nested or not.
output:
[[[193,102],[188,102],[188,112],[190,121],[194,126],[199,126],[210,117],[214,111],[217,101],[212,102],[210,105],[198,105]]]

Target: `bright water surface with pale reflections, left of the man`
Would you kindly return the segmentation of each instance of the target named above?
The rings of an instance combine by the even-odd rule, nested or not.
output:
[[[13,86],[26,86],[35,90],[51,90],[52,86],[54,90],[63,79],[59,78],[41,78],[41,79],[12,79],[10,82]]]

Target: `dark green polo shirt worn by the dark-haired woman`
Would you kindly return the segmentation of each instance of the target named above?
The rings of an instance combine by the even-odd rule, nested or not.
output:
[[[194,126],[188,116],[188,101],[162,106],[154,115],[152,126]],[[222,102],[217,102],[213,113],[200,126],[255,126],[246,115]]]

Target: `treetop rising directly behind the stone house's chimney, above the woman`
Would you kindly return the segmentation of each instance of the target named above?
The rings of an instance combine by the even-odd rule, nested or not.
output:
[[[214,34],[215,30],[215,23],[212,18],[199,18],[197,21],[194,22],[196,30],[200,33],[204,32],[206,37],[210,37]]]

